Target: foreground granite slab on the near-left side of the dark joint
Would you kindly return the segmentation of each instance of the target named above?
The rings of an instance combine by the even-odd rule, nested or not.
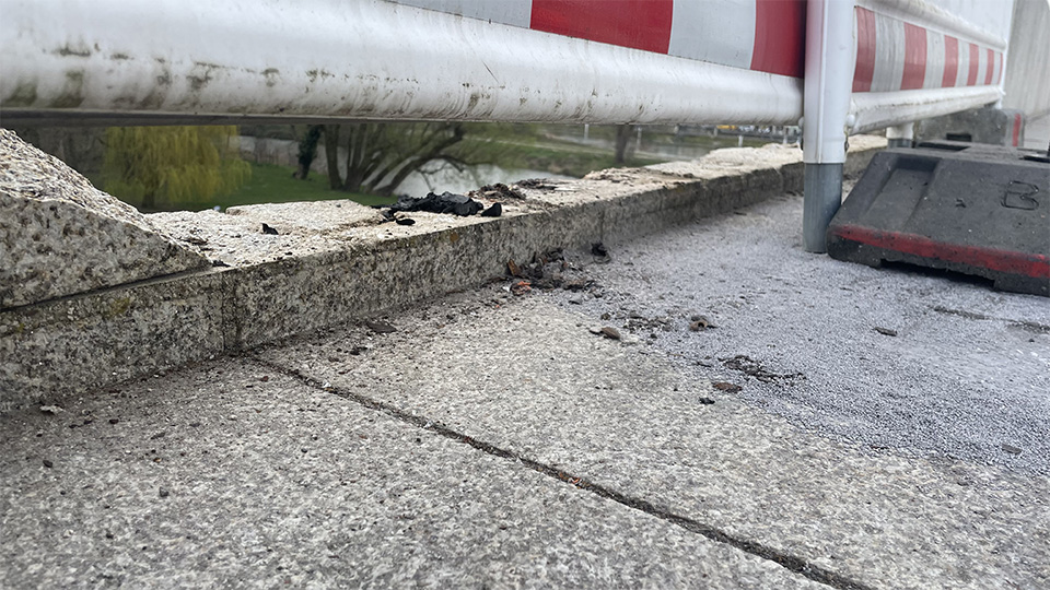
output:
[[[819,588],[242,358],[0,416],[0,587]]]

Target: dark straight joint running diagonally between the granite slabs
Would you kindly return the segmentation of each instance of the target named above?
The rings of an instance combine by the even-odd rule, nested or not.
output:
[[[661,508],[660,506],[656,506],[651,502],[628,496],[626,494],[621,494],[619,492],[616,492],[615,489],[588,482],[583,477],[579,477],[571,473],[567,473],[565,471],[556,469],[546,463],[541,463],[539,461],[528,459],[527,457],[523,457],[514,451],[510,451],[510,450],[497,447],[494,445],[491,445],[489,442],[478,440],[477,438],[474,438],[471,436],[454,430],[447,426],[444,426],[439,422],[428,420],[424,416],[411,414],[409,412],[400,410],[394,406],[393,404],[374,400],[372,398],[362,396],[360,393],[355,393],[345,388],[334,387],[334,386],[326,387],[326,385],[323,384],[320,380],[315,379],[314,377],[311,377],[308,375],[304,375],[302,371],[298,369],[285,367],[281,364],[260,358],[256,355],[252,356],[252,361],[266,368],[272,369],[281,375],[291,377],[310,388],[318,389],[327,393],[332,393],[346,400],[352,401],[361,406],[368,408],[370,410],[375,410],[377,412],[382,412],[397,421],[410,424],[412,426],[417,426],[419,428],[423,428],[425,430],[431,430],[451,440],[455,440],[457,442],[468,445],[487,455],[491,455],[500,459],[517,461],[521,464],[527,467],[528,469],[532,469],[533,471],[536,471],[549,477],[559,480],[563,483],[568,483],[569,485],[572,485],[585,492],[595,494],[600,498],[612,500],[628,508],[645,512],[650,516],[654,516],[656,518],[660,518],[661,520],[670,522],[672,524],[675,524],[676,527],[685,529],[689,532],[703,535],[716,543],[723,543],[732,547],[735,547],[739,551],[743,551],[745,553],[755,555],[756,557],[760,557],[762,559],[773,562],[792,573],[798,574],[818,583],[829,586],[831,588],[835,588],[836,590],[875,590],[875,588],[872,586],[852,580],[841,574],[837,574],[824,567],[819,567],[814,564],[810,564],[802,557],[797,557],[791,554],[780,552],[773,547],[763,545],[756,541],[749,541],[746,539],[739,539],[739,538],[733,536],[724,531],[721,531],[713,527],[709,527],[698,520],[695,520],[681,515],[677,515],[666,508]]]

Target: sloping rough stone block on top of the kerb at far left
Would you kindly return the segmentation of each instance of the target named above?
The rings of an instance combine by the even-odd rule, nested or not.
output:
[[[208,264],[135,208],[0,129],[0,309]]]

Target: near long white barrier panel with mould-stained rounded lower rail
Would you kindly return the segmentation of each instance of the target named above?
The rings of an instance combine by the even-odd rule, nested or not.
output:
[[[804,13],[784,0],[0,0],[0,117],[795,123]]]

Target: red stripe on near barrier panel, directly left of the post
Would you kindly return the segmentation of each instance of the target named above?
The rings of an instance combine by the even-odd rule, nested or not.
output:
[[[806,71],[806,3],[757,0],[751,70],[802,78]]]

